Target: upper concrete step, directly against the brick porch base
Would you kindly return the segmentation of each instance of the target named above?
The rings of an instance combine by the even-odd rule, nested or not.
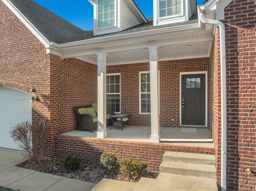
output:
[[[163,155],[163,161],[215,165],[215,156],[205,155],[205,154],[194,154],[194,153],[165,152]]]

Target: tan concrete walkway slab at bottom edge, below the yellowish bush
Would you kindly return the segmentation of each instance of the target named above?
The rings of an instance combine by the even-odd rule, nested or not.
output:
[[[125,182],[104,178],[90,191],[132,191],[135,186],[136,183],[134,182]]]

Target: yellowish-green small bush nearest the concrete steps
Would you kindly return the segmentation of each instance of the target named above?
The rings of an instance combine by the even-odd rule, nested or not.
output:
[[[138,159],[124,158],[120,161],[120,171],[124,177],[133,181],[139,179],[148,167],[146,162],[141,162]]]

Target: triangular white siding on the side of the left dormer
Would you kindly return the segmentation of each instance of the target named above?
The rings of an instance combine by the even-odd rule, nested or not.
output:
[[[127,28],[130,28],[132,26],[136,26],[140,24],[140,21],[136,16],[132,13],[129,6],[124,2],[121,1],[121,12],[120,12],[120,21],[121,21],[121,30],[125,30]]]

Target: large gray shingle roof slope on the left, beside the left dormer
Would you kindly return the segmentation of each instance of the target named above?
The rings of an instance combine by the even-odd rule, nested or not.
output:
[[[49,41],[60,43],[80,32],[82,29],[50,12],[32,0],[10,0],[12,4],[44,35]]]

